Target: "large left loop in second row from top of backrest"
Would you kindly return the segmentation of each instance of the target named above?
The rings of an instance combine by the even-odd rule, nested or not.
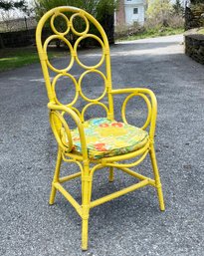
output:
[[[44,51],[47,53],[47,48],[48,48],[48,45],[49,43],[54,40],[54,39],[60,39],[62,41],[64,41],[66,43],[66,45],[69,47],[70,49],[70,53],[71,53],[71,60],[70,60],[70,64],[68,65],[67,68],[65,69],[57,69],[55,68],[49,60],[47,60],[47,64],[48,64],[48,67],[52,70],[52,71],[55,71],[57,73],[59,72],[68,72],[72,67],[73,67],[73,64],[75,62],[75,57],[74,57],[74,50],[73,50],[73,46],[71,45],[71,43],[64,37],[61,37],[59,35],[53,35],[53,36],[50,36],[49,38],[47,38],[47,40],[45,41],[44,43]]]

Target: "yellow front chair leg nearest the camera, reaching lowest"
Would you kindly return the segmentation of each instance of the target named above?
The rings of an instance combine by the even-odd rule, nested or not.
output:
[[[89,173],[89,166],[85,167],[84,173]],[[92,194],[92,177],[89,174],[82,176],[83,181],[83,198],[82,198],[82,249],[88,250],[88,231],[90,216],[90,201]]]

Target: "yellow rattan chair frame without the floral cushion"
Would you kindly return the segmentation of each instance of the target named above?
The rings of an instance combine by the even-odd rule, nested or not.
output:
[[[73,15],[69,19],[64,15],[64,12],[72,12]],[[66,24],[68,27],[65,32],[59,32],[55,27],[55,19],[58,16],[61,16],[66,21]],[[73,20],[76,16],[80,16],[81,18],[84,19],[86,24],[85,31],[78,32],[74,28]],[[54,32],[54,35],[48,37],[45,43],[42,43],[42,40],[41,40],[42,30],[46,21],[49,20],[50,18],[51,18],[50,24]],[[101,38],[89,33],[90,23],[93,23],[98,28],[101,34]],[[75,35],[79,36],[74,47],[66,38],[67,34],[70,31],[72,31],[72,33],[74,33]],[[96,39],[97,41],[100,42],[102,46],[102,59],[95,66],[88,66],[83,64],[78,57],[78,45],[83,39],[87,37]],[[49,43],[53,39],[63,40],[70,48],[71,62],[68,65],[68,67],[61,70],[53,67],[48,59],[47,48]],[[54,135],[57,139],[58,146],[59,146],[56,169],[55,169],[55,174],[52,182],[52,189],[51,189],[49,202],[50,204],[54,203],[56,191],[58,190],[73,205],[73,207],[76,209],[78,214],[82,217],[82,249],[87,250],[88,249],[89,215],[90,215],[91,208],[96,207],[116,197],[119,197],[125,193],[131,192],[140,187],[151,185],[155,187],[157,190],[160,210],[164,210],[163,194],[162,194],[161,182],[160,182],[158,167],[156,163],[155,150],[154,150],[154,132],[155,132],[156,115],[157,115],[156,98],[150,90],[144,89],[144,88],[135,88],[135,89],[127,88],[127,89],[120,89],[120,90],[112,90],[108,41],[100,23],[86,11],[83,11],[75,7],[69,7],[69,6],[57,7],[50,10],[39,21],[39,24],[36,30],[36,42],[37,42],[39,58],[41,61],[47,93],[48,93],[48,99],[49,99],[48,109],[50,110],[51,128],[53,129]],[[72,69],[75,61],[82,68],[86,69],[86,71],[80,77],[79,81],[77,81],[70,73],[68,73]],[[102,72],[99,70],[99,68],[102,66],[102,63],[105,64],[104,74],[102,74]],[[49,74],[50,70],[57,73],[57,76],[54,78],[53,81],[51,81],[50,79],[50,74]],[[98,73],[99,75],[101,75],[104,81],[104,91],[102,93],[102,96],[100,96],[98,99],[90,99],[87,96],[85,96],[84,93],[82,92],[83,79],[87,74],[92,72]],[[69,103],[68,105],[63,105],[58,100],[55,92],[56,83],[58,79],[63,76],[69,77],[73,81],[76,88],[76,96],[73,102]],[[144,100],[144,102],[146,103],[148,113],[142,129],[149,128],[149,139],[146,142],[146,144],[144,144],[141,148],[133,152],[129,152],[126,154],[117,155],[113,157],[104,157],[99,160],[92,160],[89,158],[89,155],[88,155],[86,134],[83,126],[85,113],[88,111],[88,109],[91,106],[98,105],[105,110],[106,117],[110,120],[113,120],[114,118],[113,98],[119,94],[127,95],[121,108],[121,117],[124,123],[127,123],[125,112],[126,112],[126,104],[128,103],[128,101],[133,97],[141,97]],[[80,113],[74,107],[75,103],[79,100],[80,97],[82,97],[85,101],[88,102],[87,106],[84,108],[82,113]],[[108,100],[107,105],[104,105],[100,102],[104,97],[107,97],[107,100]],[[82,144],[82,154],[78,154],[72,151],[72,144],[73,144],[72,135],[70,132],[70,128],[64,119],[65,114],[68,115],[75,122],[76,127],[79,129],[79,134],[80,134],[80,139]],[[64,128],[65,132],[67,133],[67,136],[69,138],[68,141],[65,141],[65,139],[63,139],[62,137],[62,128]],[[147,154],[150,155],[150,159],[152,163],[152,169],[154,174],[153,179],[146,177],[130,169],[130,167],[138,165],[146,157]],[[131,163],[123,163],[123,162],[121,163],[121,161],[123,160],[129,160],[133,158],[134,160]],[[60,168],[61,168],[62,160],[67,162],[77,163],[77,165],[79,165],[80,167],[80,171],[65,177],[60,177]],[[94,164],[93,167],[91,167],[91,163]],[[139,182],[131,186],[128,186],[126,188],[123,188],[119,191],[116,191],[114,193],[105,195],[102,198],[92,201],[93,177],[94,177],[95,171],[100,170],[103,167],[109,168],[108,180],[110,182],[112,182],[114,179],[114,168],[120,169],[124,173],[133,176],[134,178],[139,180]],[[76,199],[62,185],[62,183],[78,177],[81,178],[81,181],[82,181],[82,204],[79,204],[76,201]]]

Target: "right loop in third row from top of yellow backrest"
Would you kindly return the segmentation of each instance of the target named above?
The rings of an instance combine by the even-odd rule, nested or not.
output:
[[[82,82],[83,82],[83,79],[85,78],[85,76],[86,76],[87,74],[90,74],[90,73],[98,73],[98,74],[100,74],[101,77],[102,77],[102,79],[103,79],[103,81],[104,81],[104,91],[103,91],[103,93],[102,93],[102,96],[100,96],[100,97],[97,98],[97,99],[90,99],[90,98],[88,98],[87,96],[84,95],[84,93],[83,93],[83,91],[82,91]],[[84,100],[90,102],[90,103],[95,103],[96,101],[101,101],[102,98],[103,98],[103,97],[105,96],[105,94],[106,94],[106,78],[105,78],[105,76],[102,74],[102,72],[99,71],[99,70],[88,70],[88,71],[84,72],[84,73],[81,75],[81,77],[80,77],[80,79],[79,79],[79,87],[80,87],[80,89],[81,89],[81,90],[80,90],[80,95],[82,96],[82,98],[83,98]]]

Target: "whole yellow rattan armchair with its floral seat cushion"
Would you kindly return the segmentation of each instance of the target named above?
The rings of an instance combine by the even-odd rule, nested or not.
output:
[[[58,24],[57,19],[59,18],[64,20],[66,24],[64,31],[56,28]],[[77,31],[75,19],[82,20],[82,23],[84,23],[84,26],[82,26],[84,28],[83,31]],[[43,40],[43,28],[48,22],[52,28],[52,35]],[[94,31],[98,29],[100,36],[91,32],[91,26],[95,28]],[[72,37],[69,37],[70,34],[72,34]],[[69,41],[69,38],[73,38],[73,36],[75,37],[75,44],[71,44]],[[84,64],[78,54],[81,41],[87,38],[97,40],[102,46],[102,59],[95,66]],[[86,11],[69,6],[50,10],[39,21],[36,39],[48,93],[50,123],[59,148],[52,182],[50,204],[54,203],[56,191],[58,190],[75,207],[82,217],[82,248],[87,250],[89,213],[93,207],[139,187],[151,185],[157,190],[160,210],[164,210],[161,182],[154,151],[154,131],[157,114],[156,99],[154,94],[148,89],[126,88],[112,90],[108,41],[100,23]],[[65,69],[58,69],[49,61],[47,49],[52,40],[62,41],[70,49],[70,64]],[[84,69],[79,79],[72,75],[72,68],[75,63],[82,70]],[[105,66],[103,73],[101,70],[102,65]],[[98,99],[92,99],[92,96],[88,98],[82,90],[83,80],[90,73],[99,74],[104,81],[104,90]],[[60,102],[56,93],[56,84],[64,77],[69,78],[76,88],[74,100],[66,105]],[[113,98],[121,94],[125,95],[125,100],[121,107],[122,123],[114,120],[113,112]],[[147,107],[147,118],[142,128],[130,126],[126,121],[126,106],[128,101],[134,97],[142,98]],[[104,99],[106,101],[102,101]],[[87,103],[82,111],[76,108],[79,100]],[[93,106],[102,107],[106,118],[85,121],[85,114]],[[68,124],[70,123],[65,116],[69,116],[73,120],[76,128],[71,129],[69,127]],[[153,179],[130,169],[139,164],[148,153],[152,163]],[[130,161],[130,159],[132,160]],[[62,160],[77,163],[80,171],[60,177]],[[117,168],[137,178],[139,182],[137,180],[134,185],[92,201],[93,175],[96,170],[103,167],[109,168],[109,181],[113,181],[113,168]],[[82,205],[63,186],[65,181],[77,177],[80,177],[82,181]]]

